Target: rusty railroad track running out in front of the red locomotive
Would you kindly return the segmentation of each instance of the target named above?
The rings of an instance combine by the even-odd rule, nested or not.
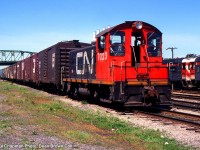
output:
[[[156,116],[161,119],[164,118],[167,120],[184,123],[184,125],[189,125],[186,127],[186,130],[194,130],[195,132],[200,132],[200,115],[171,111],[161,108],[150,108],[147,111],[139,110],[138,112],[150,116]],[[154,120],[159,121],[159,119]]]

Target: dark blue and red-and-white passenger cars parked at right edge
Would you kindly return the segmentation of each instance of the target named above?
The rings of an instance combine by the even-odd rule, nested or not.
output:
[[[169,67],[169,79],[174,88],[200,87],[200,57],[188,54],[185,58],[165,59]]]

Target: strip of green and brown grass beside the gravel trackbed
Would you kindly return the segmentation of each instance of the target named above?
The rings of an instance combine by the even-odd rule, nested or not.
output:
[[[38,130],[33,130],[33,135],[42,132],[80,143],[141,150],[189,149],[163,137],[159,131],[134,127],[101,112],[80,110],[8,82],[1,82],[0,94],[7,96],[4,104],[14,107],[8,114],[21,118],[31,116],[26,121],[1,121],[0,130],[14,124],[37,125]]]

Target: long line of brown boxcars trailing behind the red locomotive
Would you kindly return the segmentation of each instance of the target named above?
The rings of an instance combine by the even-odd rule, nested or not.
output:
[[[90,45],[78,40],[59,42],[4,68],[3,78],[44,89],[60,90],[62,77],[69,67],[69,51]]]

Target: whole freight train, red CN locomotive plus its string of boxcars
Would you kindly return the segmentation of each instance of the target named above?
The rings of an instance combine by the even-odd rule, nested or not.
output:
[[[18,62],[14,79],[125,106],[171,105],[162,33],[156,27],[127,21],[101,31],[95,40],[93,45],[51,46]],[[6,78],[11,67],[4,69]]]

